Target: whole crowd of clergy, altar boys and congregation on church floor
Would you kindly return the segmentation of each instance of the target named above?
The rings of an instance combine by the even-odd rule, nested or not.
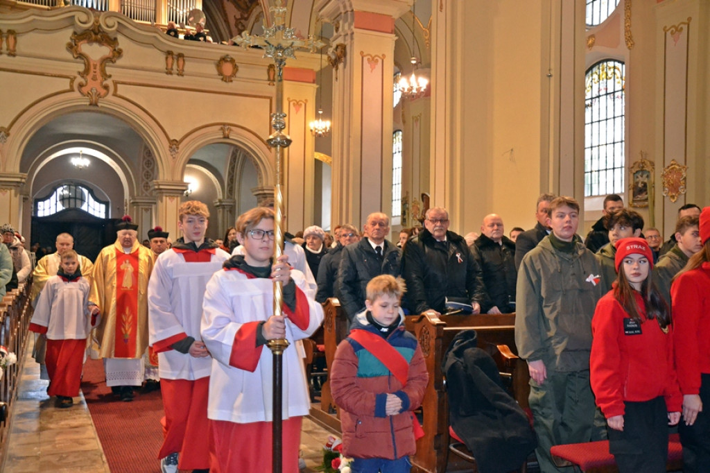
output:
[[[261,448],[273,418],[264,345],[299,346],[333,297],[351,322],[329,379],[354,472],[409,471],[427,373],[404,316],[513,312],[543,472],[564,471],[550,447],[606,438],[622,472],[665,471],[667,424],[679,425],[684,471],[710,469],[710,207],[681,207],[665,244],[618,195],[605,198],[584,241],[578,202],[550,194],[537,200],[535,227],[508,236],[492,213],[462,237],[447,209],[432,207],[393,243],[388,215],[373,212],[362,231],[335,227],[332,244],[315,225],[286,234],[278,261],[270,207],[245,212],[216,241],[205,237],[206,205],[185,202],[178,218],[182,237],[170,243],[155,227],[146,247],[124,217],[94,262],[59,234],[31,290],[31,330],[45,342],[38,361],[58,407],[78,395],[87,339],[116,399],[159,386],[163,472],[271,467]],[[26,280],[29,261],[14,230],[0,231],[5,288],[13,275]],[[274,281],[283,315],[273,315]],[[299,353],[283,355],[287,472],[297,470],[310,407]]]

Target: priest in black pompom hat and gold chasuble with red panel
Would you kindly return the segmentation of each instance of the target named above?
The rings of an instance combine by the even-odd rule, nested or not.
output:
[[[97,305],[101,323],[95,339],[104,359],[106,384],[133,399],[133,386],[143,384],[143,353],[148,347],[148,278],[153,253],[138,241],[138,225],[124,217],[117,239],[102,249],[94,263],[89,304]]]

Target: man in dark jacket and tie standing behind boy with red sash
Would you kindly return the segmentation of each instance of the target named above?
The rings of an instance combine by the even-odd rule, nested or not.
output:
[[[335,296],[349,320],[365,309],[365,288],[375,276],[400,275],[401,250],[385,237],[390,233],[390,218],[381,212],[367,216],[366,238],[345,246],[338,267]]]

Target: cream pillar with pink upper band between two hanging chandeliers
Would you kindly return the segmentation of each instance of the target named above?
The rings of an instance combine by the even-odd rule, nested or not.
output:
[[[323,0],[334,25],[332,215],[360,227],[371,212],[391,213],[394,23],[412,0]],[[344,11],[346,8],[351,10]]]

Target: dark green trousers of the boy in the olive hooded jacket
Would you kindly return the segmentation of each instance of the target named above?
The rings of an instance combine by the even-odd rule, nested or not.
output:
[[[552,462],[550,447],[567,443],[589,442],[599,438],[594,425],[594,394],[589,384],[589,370],[561,373],[547,371],[540,385],[530,380],[530,411],[537,433],[537,461],[540,471],[572,472],[572,467],[558,468]]]

